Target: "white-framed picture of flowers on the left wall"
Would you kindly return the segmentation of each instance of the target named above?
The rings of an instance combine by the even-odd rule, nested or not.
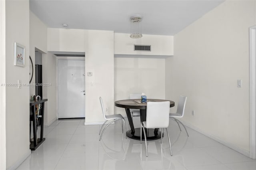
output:
[[[14,43],[14,65],[25,67],[25,47]]]

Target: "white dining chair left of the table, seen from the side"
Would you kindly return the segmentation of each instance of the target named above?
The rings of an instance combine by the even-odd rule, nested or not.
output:
[[[101,140],[101,137],[104,133],[104,131],[106,130],[106,128],[111,124],[113,123],[114,121],[118,121],[118,120],[121,120],[122,121],[122,133],[125,133],[125,138],[127,138],[126,136],[126,126],[125,126],[125,120],[124,120],[124,117],[120,114],[116,114],[116,115],[106,115],[105,114],[105,109],[104,109],[104,104],[103,104],[103,101],[102,101],[102,98],[100,97],[100,105],[101,105],[101,109],[102,109],[102,113],[104,115],[104,118],[106,119],[106,121],[103,123],[102,127],[100,128],[100,132],[102,130],[102,128],[104,127],[104,125],[107,123],[107,121],[109,120],[112,120],[110,123],[108,123],[108,125],[106,125],[106,127],[102,130],[101,134],[99,132],[99,135],[100,135],[100,140]],[[123,128],[124,126],[124,128]],[[125,131],[125,132],[124,132]]]

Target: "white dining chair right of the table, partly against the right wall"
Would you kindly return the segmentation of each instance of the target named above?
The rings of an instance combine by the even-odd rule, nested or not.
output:
[[[177,111],[176,111],[176,113],[170,113],[169,117],[170,117],[170,119],[176,121],[179,128],[180,128],[180,125],[179,125],[179,123],[180,123],[184,127],[184,129],[186,130],[186,133],[188,135],[188,131],[187,131],[186,127],[183,125],[183,123],[181,121],[179,121],[178,119],[176,119],[176,118],[182,118],[184,116],[186,100],[187,100],[186,96],[180,95],[179,101],[178,101],[178,106],[177,106]],[[181,128],[180,128],[180,131],[181,131]]]

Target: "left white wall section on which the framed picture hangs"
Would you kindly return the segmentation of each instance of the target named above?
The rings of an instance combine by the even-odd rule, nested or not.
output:
[[[22,12],[20,12],[22,9]],[[29,83],[29,1],[6,1],[5,83]],[[25,49],[25,67],[14,66],[14,42]],[[2,63],[2,60],[1,60]],[[1,72],[2,72],[1,67]],[[29,87],[6,87],[6,168],[15,169],[30,154]],[[1,112],[1,114],[4,114]]]

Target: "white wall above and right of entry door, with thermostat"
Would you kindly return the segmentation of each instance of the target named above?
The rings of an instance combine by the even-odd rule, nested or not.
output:
[[[113,31],[48,28],[48,51],[85,52],[86,124],[104,121],[100,96],[109,112],[114,112]]]

